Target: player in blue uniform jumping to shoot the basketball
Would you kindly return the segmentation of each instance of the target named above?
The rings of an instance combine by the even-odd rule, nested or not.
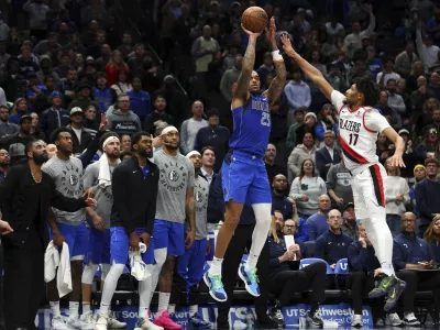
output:
[[[211,297],[218,301],[228,299],[221,282],[221,264],[228,244],[240,221],[244,202],[252,205],[256,224],[248,262],[244,266],[240,266],[239,276],[252,296],[260,296],[256,262],[267,239],[272,205],[263,156],[271,133],[271,107],[275,105],[286,81],[286,67],[276,45],[275,19],[271,19],[266,36],[272,45],[276,77],[262,95],[258,95],[260,77],[253,70],[256,38],[261,33],[251,32],[243,25],[242,29],[249,34],[249,44],[237,88],[233,91],[231,106],[233,133],[229,144],[230,151],[222,166],[226,217],[217,237],[212,265],[204,276],[210,288]]]

